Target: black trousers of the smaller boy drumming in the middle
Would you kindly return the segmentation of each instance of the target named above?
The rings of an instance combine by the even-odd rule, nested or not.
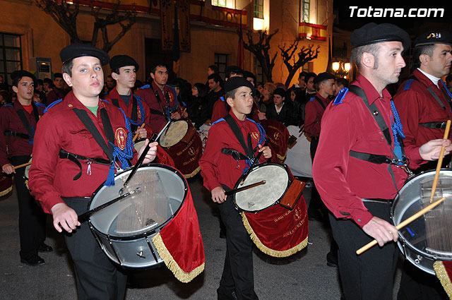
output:
[[[258,299],[254,292],[253,241],[246,232],[242,216],[234,208],[232,196],[228,196],[218,208],[227,232],[225,266],[217,291],[218,299],[227,299],[222,295],[230,295],[234,291],[239,300]]]

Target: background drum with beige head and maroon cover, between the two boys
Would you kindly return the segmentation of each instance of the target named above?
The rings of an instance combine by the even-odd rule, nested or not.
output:
[[[195,176],[201,169],[199,159],[203,155],[201,138],[196,128],[184,119],[172,121],[158,139],[158,143],[186,178]]]

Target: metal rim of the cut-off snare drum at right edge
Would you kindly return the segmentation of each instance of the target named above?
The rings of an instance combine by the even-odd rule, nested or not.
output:
[[[440,174],[441,172],[446,171],[446,172],[452,172],[452,169],[448,169],[448,168],[441,168],[440,169]],[[430,169],[427,171],[422,171],[420,172],[420,174],[415,174],[413,176],[408,177],[408,179],[405,180],[405,183],[403,184],[402,188],[400,188],[400,191],[403,190],[403,187],[408,184],[408,182],[414,180],[415,178],[419,177],[419,176],[424,176],[425,174],[429,174],[429,173],[435,173],[436,170],[435,169]],[[394,216],[394,209],[396,208],[397,203],[400,201],[400,191],[398,191],[396,197],[394,198],[393,204],[391,205],[391,221],[393,222],[393,225],[396,226],[396,222],[395,222],[395,216]],[[436,257],[433,256],[430,253],[424,252],[418,248],[416,248],[415,246],[413,246],[407,239],[405,239],[405,236],[403,236],[400,233],[400,230],[398,231],[398,241],[397,241],[398,247],[400,248],[400,251],[403,252],[403,255],[405,256],[405,258],[407,258],[407,254],[405,251],[405,248],[403,246],[407,246],[408,248],[410,248],[411,251],[415,252],[416,254],[419,254],[421,256],[424,256],[424,258],[430,259],[430,260],[436,260],[436,259],[441,259],[441,260],[446,260],[446,261],[451,261],[451,258],[440,258],[440,257]],[[452,252],[451,252],[452,253]],[[408,259],[410,260],[410,259]],[[420,268],[420,266],[418,266],[418,264],[413,263],[413,265],[415,265],[417,268]],[[421,270],[424,270],[422,268],[420,268]],[[432,264],[432,270],[433,270],[433,264]]]

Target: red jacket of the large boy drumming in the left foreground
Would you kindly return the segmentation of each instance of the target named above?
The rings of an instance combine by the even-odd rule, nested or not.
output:
[[[40,201],[44,212],[51,213],[51,208],[57,203],[64,203],[61,197],[87,197],[90,198],[93,192],[99,187],[109,172],[109,165],[88,164],[81,161],[81,177],[73,180],[80,169],[71,160],[59,157],[59,150],[63,149],[76,155],[89,158],[103,158],[107,160],[107,155],[97,145],[95,139],[83,125],[82,121],[73,112],[73,108],[83,109],[88,112],[97,130],[101,133],[107,143],[100,109],[107,109],[107,113],[112,124],[114,133],[114,145],[127,135],[118,133],[128,133],[124,114],[112,104],[99,101],[97,116],[87,109],[73,92],[69,92],[64,100],[42,116],[40,126],[35,134],[33,144],[33,163],[30,168],[30,180],[28,182],[32,190],[32,196]],[[124,131],[123,131],[124,130]],[[121,140],[125,143],[126,140]],[[137,154],[133,150],[133,162],[136,162]],[[90,166],[90,174],[88,167]],[[88,199],[87,199],[88,201]]]

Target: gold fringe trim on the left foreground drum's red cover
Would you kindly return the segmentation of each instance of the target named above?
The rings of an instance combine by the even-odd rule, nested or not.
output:
[[[174,277],[176,277],[177,280],[179,280],[180,282],[184,283],[191,282],[191,280],[193,280],[194,277],[200,275],[201,272],[203,272],[204,263],[189,273],[184,272],[184,270],[182,270],[179,267],[176,260],[172,258],[171,253],[169,253],[167,247],[165,246],[165,243],[163,243],[162,236],[160,236],[160,233],[155,234],[155,236],[153,237],[153,243],[155,248],[157,249],[158,255],[165,262],[167,268],[174,274]]]

